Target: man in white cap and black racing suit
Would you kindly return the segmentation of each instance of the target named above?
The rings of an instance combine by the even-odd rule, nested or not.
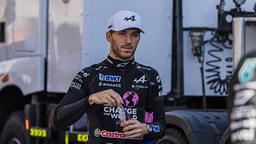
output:
[[[56,108],[55,126],[66,127],[86,113],[89,144],[142,144],[159,138],[165,129],[160,77],[134,60],[141,18],[118,11],[107,28],[108,57],[74,77]]]

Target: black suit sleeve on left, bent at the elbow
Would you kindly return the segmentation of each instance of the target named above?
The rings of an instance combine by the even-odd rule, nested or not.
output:
[[[89,108],[88,79],[90,73],[81,70],[73,78],[69,89],[54,112],[54,126],[65,128],[76,122]]]

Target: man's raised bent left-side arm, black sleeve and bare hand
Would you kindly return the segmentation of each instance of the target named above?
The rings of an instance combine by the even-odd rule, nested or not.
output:
[[[94,104],[122,105],[121,96],[111,89],[91,94],[88,88],[88,82],[91,81],[89,75],[88,72],[80,71],[71,82],[67,94],[55,110],[55,127],[73,124]]]

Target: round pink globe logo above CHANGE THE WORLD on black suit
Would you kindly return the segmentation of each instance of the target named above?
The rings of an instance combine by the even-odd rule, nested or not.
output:
[[[123,95],[123,100],[126,107],[135,107],[139,103],[139,95],[134,91],[127,91]]]

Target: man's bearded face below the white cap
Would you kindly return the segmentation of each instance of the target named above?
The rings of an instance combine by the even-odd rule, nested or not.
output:
[[[136,28],[111,31],[106,34],[110,43],[109,55],[118,60],[130,60],[140,41],[140,31]]]

